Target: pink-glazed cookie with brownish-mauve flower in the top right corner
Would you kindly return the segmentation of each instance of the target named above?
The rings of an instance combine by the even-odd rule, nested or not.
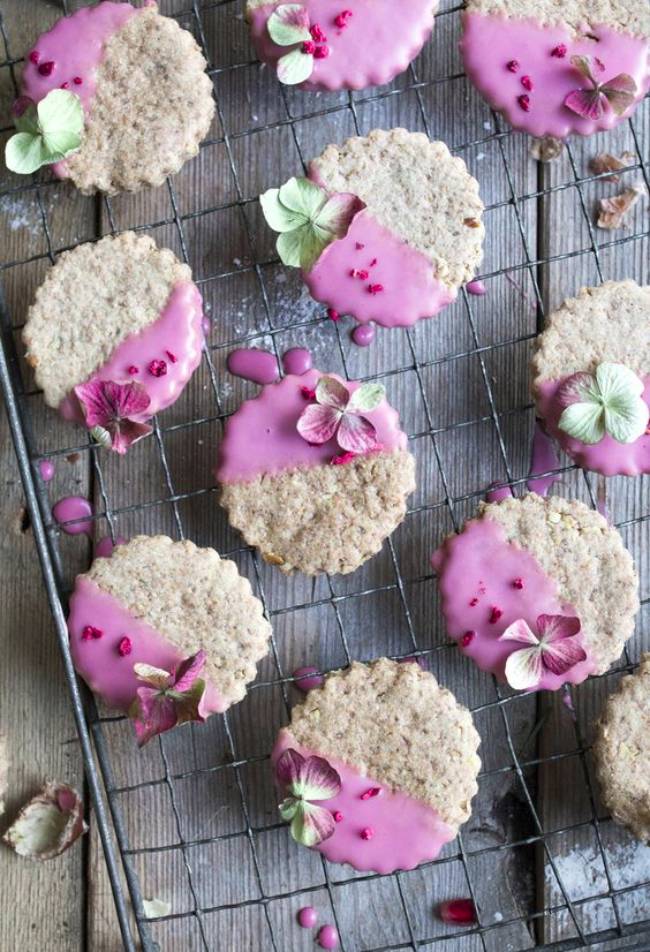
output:
[[[467,0],[465,71],[523,132],[611,129],[650,88],[650,6],[638,0]]]

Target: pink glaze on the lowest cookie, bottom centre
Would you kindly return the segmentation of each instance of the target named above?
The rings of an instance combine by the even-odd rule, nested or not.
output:
[[[314,756],[296,743],[288,729],[278,735],[271,754],[275,765],[280,755],[292,747],[303,757]],[[315,847],[332,863],[350,863],[355,869],[392,873],[396,869],[414,869],[419,863],[435,859],[456,833],[426,803],[404,793],[391,792],[381,781],[366,777],[339,760],[327,757],[341,778],[341,792],[331,800],[322,801],[332,813],[340,811],[343,819],[329,839]],[[378,787],[378,796],[362,799],[369,789]],[[369,839],[361,831],[372,828]]]

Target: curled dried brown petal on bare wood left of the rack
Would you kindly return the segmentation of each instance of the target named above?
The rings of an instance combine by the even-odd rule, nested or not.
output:
[[[81,797],[66,783],[46,783],[3,836],[19,856],[54,859],[88,830]]]

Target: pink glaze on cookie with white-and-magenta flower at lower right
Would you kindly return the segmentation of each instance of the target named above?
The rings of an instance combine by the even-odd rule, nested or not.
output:
[[[524,647],[498,640],[513,621],[524,618],[535,631],[539,615],[576,614],[571,605],[559,600],[555,581],[530,552],[509,543],[501,526],[490,519],[472,519],[460,535],[443,542],[431,562],[438,574],[450,637],[482,671],[490,671],[500,681],[505,680],[508,655]],[[493,623],[494,608],[502,614]],[[589,654],[587,644],[583,647]],[[588,656],[566,674],[545,671],[538,690],[557,691],[567,681],[579,684],[594,670]]]

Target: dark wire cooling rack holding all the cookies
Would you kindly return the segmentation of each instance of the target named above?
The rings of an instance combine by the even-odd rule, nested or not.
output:
[[[68,13],[80,5],[64,0],[62,7]],[[65,184],[42,174],[27,183],[9,179],[0,192],[5,219],[16,208],[33,216],[27,250],[2,264],[0,378],[125,948],[299,952],[313,947],[313,935],[295,924],[301,904],[318,906],[323,921],[337,925],[345,952],[650,948],[648,850],[600,806],[589,751],[590,722],[620,673],[633,669],[643,633],[613,672],[564,699],[512,696],[470,670],[446,641],[428,569],[430,551],[459,528],[490,483],[516,494],[526,488],[533,424],[526,363],[548,307],[582,283],[648,280],[647,206],[642,200],[626,230],[597,231],[594,201],[616,186],[590,174],[587,157],[628,151],[621,187],[647,189],[649,100],[616,133],[589,146],[573,142],[543,166],[529,156],[525,137],[467,85],[456,53],[458,6],[442,4],[433,42],[404,76],[353,95],[303,95],[276,84],[252,60],[231,2],[161,6],[194,33],[214,81],[217,121],[200,156],[158,190],[153,206],[137,197],[89,200],[90,233],[80,228],[83,234],[65,238],[57,217],[57,197],[73,200]],[[25,52],[12,27],[10,18],[2,23],[0,73],[11,84],[9,98]],[[255,196],[328,141],[398,124],[446,139],[479,178],[488,294],[463,292],[438,318],[383,333],[362,352],[278,266]],[[76,207],[81,215],[88,206]],[[128,461],[116,461],[89,442],[76,445],[74,430],[43,416],[17,332],[41,266],[77,240],[125,227],[151,232],[192,265],[212,306],[212,332],[178,404]],[[280,577],[241,545],[216,505],[210,464],[220,426],[250,390],[229,382],[225,357],[235,344],[260,341],[278,355],[307,342],[323,369],[380,378],[402,413],[420,488],[404,526],[351,577]],[[53,523],[54,491],[38,469],[44,458],[61,467],[76,460],[96,502],[98,535],[187,536],[216,545],[249,575],[274,637],[242,704],[142,752],[123,718],[98,710],[76,681],[64,620],[83,537],[62,536]],[[605,487],[567,460],[549,473],[567,495],[609,508],[640,568],[643,619],[650,601],[646,480]],[[390,877],[355,874],[295,847],[277,822],[268,779],[273,735],[298,695],[291,671],[380,654],[419,657],[472,709],[482,735],[472,819],[436,862]],[[143,896],[168,900],[170,914],[147,920]],[[478,924],[435,917],[438,902],[459,896],[474,899]]]

